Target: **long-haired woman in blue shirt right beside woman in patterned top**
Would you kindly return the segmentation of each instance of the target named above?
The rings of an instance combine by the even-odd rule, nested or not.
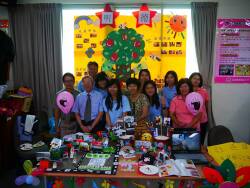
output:
[[[162,112],[166,110],[166,102],[164,98],[160,101],[156,84],[152,80],[148,80],[144,83],[143,93],[148,97],[150,103],[148,120],[154,122],[155,117],[162,116]]]

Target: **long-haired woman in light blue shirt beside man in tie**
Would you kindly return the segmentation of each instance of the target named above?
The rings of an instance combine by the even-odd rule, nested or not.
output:
[[[106,112],[106,128],[110,129],[117,119],[126,116],[131,108],[128,98],[122,95],[119,80],[109,80],[107,88],[108,94],[103,101],[103,109]]]

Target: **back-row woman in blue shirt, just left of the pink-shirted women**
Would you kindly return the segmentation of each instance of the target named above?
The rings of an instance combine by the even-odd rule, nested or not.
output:
[[[168,71],[164,78],[165,86],[162,89],[162,96],[166,100],[167,116],[169,114],[169,107],[172,99],[177,95],[176,85],[178,83],[178,76],[175,71]]]

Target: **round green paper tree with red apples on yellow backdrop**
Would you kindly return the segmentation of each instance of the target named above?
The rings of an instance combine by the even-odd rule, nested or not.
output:
[[[145,42],[132,28],[120,28],[110,32],[102,43],[106,61],[103,71],[111,71],[116,77],[125,80],[130,77],[131,64],[139,64],[145,54]]]

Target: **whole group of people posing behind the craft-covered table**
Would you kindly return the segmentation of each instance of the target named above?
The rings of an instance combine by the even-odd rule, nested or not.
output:
[[[127,79],[126,88],[122,88],[118,79],[110,79],[105,72],[98,73],[96,62],[89,62],[87,68],[88,74],[78,83],[77,90],[74,88],[74,75],[63,75],[64,89],[58,93],[70,92],[75,102],[69,114],[64,114],[56,106],[58,135],[109,130],[126,115],[134,116],[136,122],[153,122],[156,116],[163,116],[171,117],[174,128],[200,130],[201,141],[204,142],[209,96],[202,87],[200,73],[195,72],[189,78],[178,80],[175,71],[168,71],[164,78],[165,85],[158,91],[148,69],[141,70],[138,79]],[[204,100],[197,115],[189,112],[185,104],[185,97],[193,91]]]

